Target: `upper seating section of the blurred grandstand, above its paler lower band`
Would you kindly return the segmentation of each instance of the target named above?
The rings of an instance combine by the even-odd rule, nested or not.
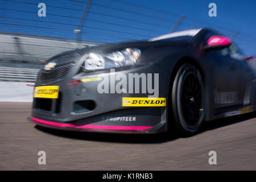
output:
[[[64,51],[97,46],[102,43],[51,38],[46,36],[11,34],[0,31],[0,65],[2,63],[30,63],[40,65],[43,60]],[[18,65],[17,65],[18,66]]]

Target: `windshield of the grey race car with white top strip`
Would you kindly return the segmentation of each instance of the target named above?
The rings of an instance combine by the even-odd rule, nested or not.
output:
[[[193,37],[200,31],[201,29],[193,29],[193,30],[185,30],[179,32],[173,32],[170,34],[165,34],[162,36],[158,36],[156,38],[152,38],[148,41],[156,41],[156,40],[184,40],[191,41]]]

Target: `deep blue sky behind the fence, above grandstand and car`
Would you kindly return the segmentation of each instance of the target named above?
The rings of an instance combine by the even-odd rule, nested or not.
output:
[[[46,4],[46,17],[38,16],[38,3]],[[86,0],[0,0],[0,31],[76,39]],[[216,3],[217,17],[210,17],[209,3]],[[82,29],[82,39],[123,42],[150,39],[177,28],[209,27],[231,37],[246,55],[256,55],[256,1],[208,0],[93,0]]]

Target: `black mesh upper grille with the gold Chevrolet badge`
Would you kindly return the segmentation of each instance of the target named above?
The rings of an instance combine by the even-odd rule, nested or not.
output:
[[[38,73],[36,83],[40,85],[46,85],[51,84],[52,82],[64,80],[73,65],[73,63],[69,63],[56,68],[52,68],[50,71],[41,70]]]

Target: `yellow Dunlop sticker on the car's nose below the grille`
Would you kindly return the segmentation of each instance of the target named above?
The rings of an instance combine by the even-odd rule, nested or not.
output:
[[[39,98],[58,98],[59,86],[36,86],[34,97]]]

